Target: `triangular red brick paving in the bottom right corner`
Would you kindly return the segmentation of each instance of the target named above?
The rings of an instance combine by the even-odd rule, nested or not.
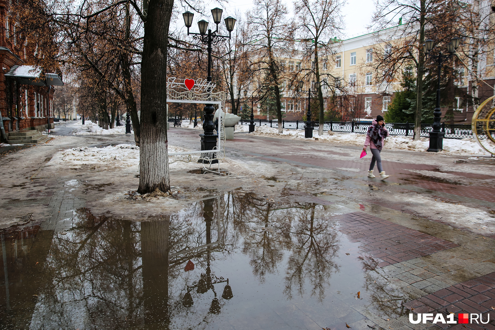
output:
[[[483,320],[489,324],[448,325],[437,323],[441,328],[462,329],[462,326],[473,330],[495,329],[495,272],[474,280],[455,284],[428,294],[419,299],[411,300],[404,307],[412,309],[413,313],[469,313],[483,314]],[[474,321],[473,321],[474,322]]]

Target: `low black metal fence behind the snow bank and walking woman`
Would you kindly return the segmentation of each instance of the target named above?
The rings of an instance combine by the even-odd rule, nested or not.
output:
[[[249,125],[248,120],[241,120],[241,125]],[[273,128],[278,128],[277,120],[254,120],[255,126],[268,126]],[[318,130],[320,124],[317,122],[312,122],[313,130]],[[323,131],[332,131],[340,133],[362,133],[366,134],[368,127],[371,125],[370,122],[334,122],[329,121],[323,124]],[[414,124],[409,123],[386,123],[385,126],[390,132],[390,135],[403,135],[412,136],[414,134]],[[282,120],[282,127],[289,130],[303,130],[306,127],[306,122],[304,121],[286,121]],[[428,138],[429,133],[433,131],[432,124],[421,124],[421,135],[422,137]],[[473,132],[471,131],[471,125],[462,124],[442,124],[442,132],[445,133],[444,138],[446,139],[464,139],[473,138]]]

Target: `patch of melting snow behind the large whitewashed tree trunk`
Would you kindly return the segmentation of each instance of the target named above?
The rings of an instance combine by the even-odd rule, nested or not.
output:
[[[181,152],[186,149],[168,146],[168,152]],[[139,146],[133,144],[108,145],[104,148],[79,147],[59,152],[60,160],[71,164],[120,164],[131,166],[139,164]]]

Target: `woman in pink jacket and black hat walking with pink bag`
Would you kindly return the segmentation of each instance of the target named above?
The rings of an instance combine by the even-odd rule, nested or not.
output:
[[[371,153],[373,154],[373,158],[371,158],[370,169],[368,170],[368,178],[375,178],[373,175],[373,168],[378,167],[378,171],[380,172],[380,179],[385,180],[389,177],[389,175],[385,174],[385,171],[382,168],[382,158],[380,157],[380,151],[382,151],[383,142],[386,137],[389,136],[389,131],[385,127],[385,121],[383,117],[378,115],[376,116],[376,120],[373,119],[371,126],[368,127],[368,133],[366,134],[366,141],[364,141],[363,150],[366,150],[368,145],[370,146]]]

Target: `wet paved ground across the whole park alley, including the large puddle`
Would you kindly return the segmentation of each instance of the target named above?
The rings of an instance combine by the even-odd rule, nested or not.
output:
[[[40,155],[2,183],[15,224],[0,230],[0,329],[423,330],[409,313],[494,311],[493,235],[447,217],[495,209],[491,160],[387,151],[383,182],[362,178],[354,146],[239,136],[227,157],[250,167],[172,169],[167,203],[184,206],[163,214],[138,213],[164,199],[137,200],[132,167],[40,170],[57,145],[5,156]],[[198,131],[170,139],[191,148]]]

